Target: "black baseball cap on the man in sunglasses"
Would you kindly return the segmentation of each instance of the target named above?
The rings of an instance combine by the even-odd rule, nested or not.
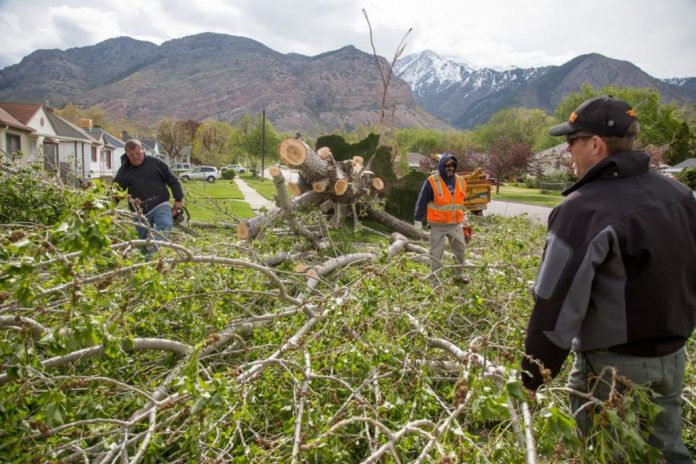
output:
[[[570,113],[568,121],[549,129],[549,134],[588,132],[605,137],[623,137],[635,121],[636,111],[631,105],[611,95],[603,95],[584,101]]]

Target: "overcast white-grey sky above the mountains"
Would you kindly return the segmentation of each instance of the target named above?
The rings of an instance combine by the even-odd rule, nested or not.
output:
[[[425,49],[476,67],[560,65],[597,52],[659,77],[696,77],[696,0],[0,0],[0,69],[37,49],[200,32],[281,53],[345,45],[390,59]]]

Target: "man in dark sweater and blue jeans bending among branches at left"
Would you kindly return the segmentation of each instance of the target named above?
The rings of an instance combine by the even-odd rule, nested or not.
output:
[[[145,239],[149,231],[155,240],[166,240],[174,227],[172,211],[182,208],[184,190],[179,179],[167,164],[154,156],[145,156],[139,140],[126,142],[126,154],[114,182],[130,195],[128,207],[144,214],[149,227],[136,227],[138,237]],[[169,206],[169,189],[174,195],[174,207]]]

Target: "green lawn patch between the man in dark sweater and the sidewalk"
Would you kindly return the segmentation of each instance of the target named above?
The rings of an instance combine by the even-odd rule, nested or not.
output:
[[[182,185],[186,194],[184,204],[192,221],[234,222],[255,216],[232,180],[220,179],[213,184],[191,181]]]

